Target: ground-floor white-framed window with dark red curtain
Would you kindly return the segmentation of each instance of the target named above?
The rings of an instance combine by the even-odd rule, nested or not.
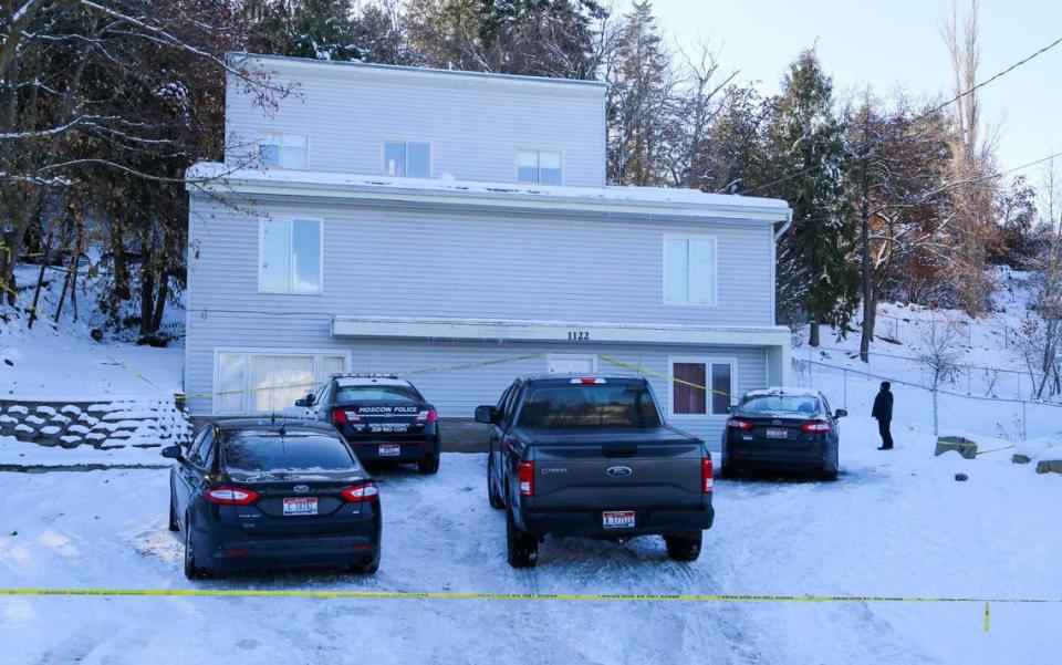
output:
[[[728,359],[670,359],[671,415],[726,415],[733,403],[735,365]]]

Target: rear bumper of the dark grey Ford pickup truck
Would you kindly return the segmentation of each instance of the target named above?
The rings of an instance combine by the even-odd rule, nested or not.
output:
[[[663,508],[635,510],[633,528],[605,528],[603,510],[521,510],[513,517],[520,530],[535,536],[582,536],[590,538],[629,538],[665,536],[710,529],[716,511]]]

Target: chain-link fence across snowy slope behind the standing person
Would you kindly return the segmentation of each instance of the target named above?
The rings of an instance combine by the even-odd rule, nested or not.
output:
[[[934,434],[985,433],[1011,441],[1062,438],[1062,404],[965,395],[811,360],[793,360],[793,381],[826,396],[834,408],[871,415],[881,382],[893,385],[893,420],[933,423]]]

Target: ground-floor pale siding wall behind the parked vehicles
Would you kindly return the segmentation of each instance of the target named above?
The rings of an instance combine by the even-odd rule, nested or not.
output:
[[[196,415],[209,414],[210,397],[195,396],[216,391],[216,349],[290,349],[340,351],[350,354],[353,372],[406,375],[436,405],[444,418],[470,418],[479,404],[493,404],[517,376],[546,371],[545,354],[598,354],[598,372],[629,374],[632,370],[611,364],[601,356],[643,368],[668,422],[702,437],[714,449],[726,416],[667,416],[670,403],[668,382],[657,375],[669,373],[668,356],[710,356],[736,362],[736,394],[767,385],[767,350],[750,346],[680,346],[581,343],[449,342],[438,340],[388,341],[337,339],[329,335],[326,316],[210,313],[190,318],[186,349],[188,407]],[[233,331],[243,331],[239,335]],[[253,332],[249,332],[253,331]],[[541,354],[538,357],[483,364],[488,361]],[[472,365],[446,368],[454,365]],[[438,368],[442,367],[442,371]],[[309,392],[309,391],[308,391]]]

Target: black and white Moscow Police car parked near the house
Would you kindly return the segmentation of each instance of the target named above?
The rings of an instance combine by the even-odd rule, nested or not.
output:
[[[295,406],[305,408],[308,418],[334,425],[364,463],[415,463],[421,474],[439,470],[435,406],[404,378],[334,376]]]

